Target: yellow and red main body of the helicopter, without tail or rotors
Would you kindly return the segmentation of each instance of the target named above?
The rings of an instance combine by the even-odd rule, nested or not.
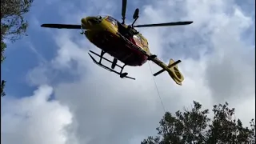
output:
[[[119,61],[128,66],[142,66],[148,57],[141,51],[135,50],[134,45],[143,50],[146,54],[150,54],[148,42],[142,34],[134,34],[129,38],[130,42],[126,42],[118,34],[118,21],[110,16],[105,18],[86,17],[82,18],[82,28],[86,29],[84,34],[90,42],[95,46],[110,54]],[[122,24],[122,26],[127,27]]]

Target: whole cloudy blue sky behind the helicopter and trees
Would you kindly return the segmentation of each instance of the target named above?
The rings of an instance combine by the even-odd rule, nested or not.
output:
[[[6,49],[1,76],[1,142],[8,144],[134,144],[156,135],[164,111],[193,101],[212,109],[229,102],[249,126],[255,118],[255,1],[128,0],[126,23],[140,9],[137,24],[194,21],[189,26],[138,29],[150,51],[164,62],[181,59],[185,77],[176,85],[152,62],[125,70],[121,79],[88,56],[100,52],[80,30],[41,28],[42,23],[80,24],[81,18],[110,14],[121,20],[116,0],[34,1],[25,18],[28,36]],[[110,58],[110,56],[107,56]]]

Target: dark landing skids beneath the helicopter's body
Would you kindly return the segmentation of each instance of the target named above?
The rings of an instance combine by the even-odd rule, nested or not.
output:
[[[106,58],[103,57],[103,55],[106,53],[105,51],[102,50],[102,52],[101,52],[100,55],[99,55],[99,54],[96,54],[94,51],[91,51],[91,50],[89,50],[89,51],[90,51],[91,54],[95,54],[96,56],[98,56],[98,57],[100,58],[100,59],[99,59],[99,62],[97,62],[97,61],[95,60],[95,58],[94,58],[93,56],[91,56],[90,53],[88,53],[88,54],[90,55],[90,58],[91,58],[91,59],[94,61],[94,63],[96,63],[98,66],[101,66],[102,68],[104,68],[104,69],[106,69],[106,70],[109,70],[110,72],[114,72],[115,74],[118,74],[118,75],[120,76],[120,78],[130,78],[130,79],[134,79],[134,80],[135,80],[135,78],[131,78],[131,77],[127,76],[128,73],[122,73],[122,70],[123,70],[123,68],[124,68],[126,65],[119,66],[119,65],[117,64],[118,59],[114,58],[113,62],[111,62],[110,60],[108,60],[108,59],[106,59]],[[108,66],[102,65],[102,59],[106,60],[107,62],[112,63],[111,68],[108,67]],[[118,71],[114,70],[114,67],[115,67],[115,66],[120,67],[120,68],[121,68],[121,71],[118,72]]]

